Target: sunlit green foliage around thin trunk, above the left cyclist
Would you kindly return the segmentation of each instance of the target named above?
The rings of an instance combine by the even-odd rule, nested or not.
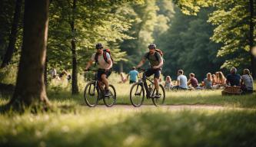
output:
[[[127,11],[121,8],[125,2],[83,0],[77,2],[75,11],[72,11],[71,5],[54,1],[50,7],[49,64],[71,68],[70,41],[74,38],[79,68],[85,67],[97,42],[111,48],[115,62],[125,60],[126,54],[120,51],[118,45],[124,39],[131,39],[124,33],[130,28],[132,21],[125,18]],[[70,29],[72,17],[75,17],[75,33]]]

